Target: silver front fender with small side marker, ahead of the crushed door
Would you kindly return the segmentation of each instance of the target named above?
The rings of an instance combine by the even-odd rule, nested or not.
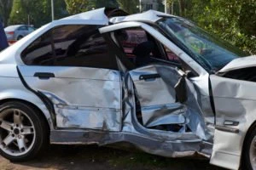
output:
[[[238,169],[247,130],[256,120],[256,83],[216,75],[210,78],[217,125],[211,163]],[[236,125],[225,122],[236,122]]]

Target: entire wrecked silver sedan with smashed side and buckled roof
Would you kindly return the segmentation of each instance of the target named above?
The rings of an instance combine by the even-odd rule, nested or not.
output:
[[[120,144],[256,170],[256,58],[183,18],[99,8],[0,54],[0,154]]]

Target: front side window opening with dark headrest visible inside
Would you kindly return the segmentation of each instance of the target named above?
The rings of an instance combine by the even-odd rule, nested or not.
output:
[[[121,50],[136,67],[160,61],[178,63],[178,57],[167,50],[142,28],[128,28],[114,32]]]

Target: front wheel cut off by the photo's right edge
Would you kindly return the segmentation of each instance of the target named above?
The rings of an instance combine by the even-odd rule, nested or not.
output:
[[[252,154],[253,153],[253,154]],[[252,162],[251,157],[255,158]],[[256,170],[256,126],[253,126],[251,133],[247,135],[244,141],[243,156],[242,156],[242,169]]]

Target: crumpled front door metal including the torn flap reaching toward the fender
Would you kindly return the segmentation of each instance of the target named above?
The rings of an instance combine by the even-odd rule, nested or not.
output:
[[[148,80],[140,78],[156,74],[160,77]],[[195,88],[189,80],[185,80],[183,89],[187,91],[187,100],[183,104],[177,101],[174,87],[182,77],[177,69],[169,65],[148,65],[130,71],[130,75],[140,101],[144,126],[187,124],[200,139],[212,138],[196,100]]]

